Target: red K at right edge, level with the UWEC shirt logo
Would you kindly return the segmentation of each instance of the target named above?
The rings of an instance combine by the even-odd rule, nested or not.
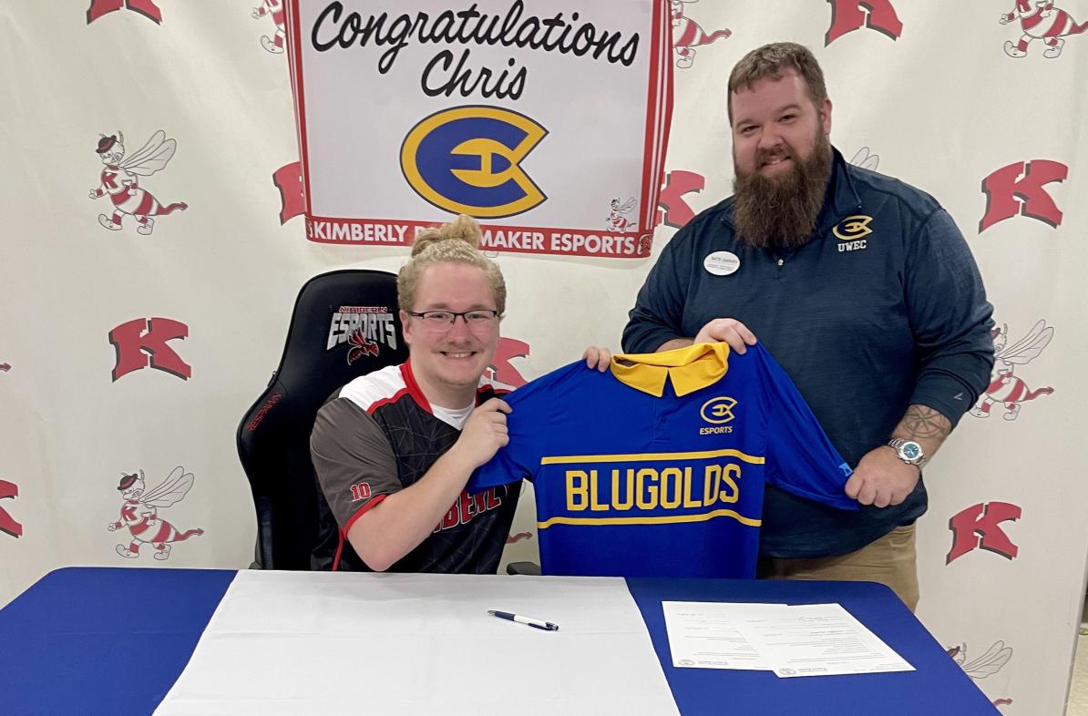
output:
[[[1068,166],[1049,159],[1014,162],[993,172],[982,180],[986,214],[978,222],[978,233],[1016,214],[1056,229],[1062,223],[1062,210],[1043,187],[1051,182],[1064,182],[1068,175]]]

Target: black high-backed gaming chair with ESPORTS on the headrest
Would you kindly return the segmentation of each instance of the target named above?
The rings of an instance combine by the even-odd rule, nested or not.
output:
[[[310,568],[318,541],[310,431],[318,408],[357,375],[407,358],[392,273],[332,271],[298,292],[280,367],[237,431],[257,507],[254,567]]]

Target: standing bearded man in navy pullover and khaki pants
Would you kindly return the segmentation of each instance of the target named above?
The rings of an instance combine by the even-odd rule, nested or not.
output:
[[[831,101],[807,48],[747,53],[727,111],[734,195],[662,251],[623,349],[726,342],[743,354],[758,336],[854,468],[845,492],[861,505],[768,485],[761,576],[881,582],[914,609],[922,467],[993,363],[975,260],[936,199],[831,146]]]

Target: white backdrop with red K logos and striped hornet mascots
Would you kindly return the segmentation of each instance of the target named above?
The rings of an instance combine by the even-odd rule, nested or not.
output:
[[[698,211],[730,193],[726,79],[774,40],[816,52],[846,158],[931,193],[967,237],[1003,329],[1001,374],[927,468],[919,617],[1002,713],[1061,713],[1088,557],[1088,33],[1076,34],[1088,0],[672,4],[687,49],[654,258],[682,202]],[[310,243],[290,218],[298,150],[276,34],[262,0],[0,7],[0,604],[64,565],[248,565],[255,519],[234,430],[276,365],[298,288],[407,256]],[[175,141],[139,186],[187,208],[146,235],[132,215],[101,224],[111,199],[90,196],[101,136],[119,132],[127,152],[159,132]],[[504,335],[528,346],[510,366],[532,379],[591,343],[618,349],[653,258],[497,260]],[[114,380],[111,332],[148,319],[145,342],[163,338],[188,376],[161,350],[159,368]],[[153,487],[177,467],[193,486],[160,516],[203,534],[169,559],[121,556],[126,540],[107,528],[122,473],[143,470]],[[534,556],[526,507],[515,558]],[[118,595],[119,615],[153,607]]]

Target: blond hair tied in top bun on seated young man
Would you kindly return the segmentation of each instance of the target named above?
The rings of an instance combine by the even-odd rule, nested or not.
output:
[[[429,266],[467,263],[477,267],[487,276],[491,293],[495,296],[495,308],[502,317],[506,312],[506,282],[498,266],[480,252],[482,239],[480,224],[465,214],[441,226],[428,229],[417,236],[411,248],[411,259],[397,273],[397,301],[400,309],[415,309],[419,279]]]

